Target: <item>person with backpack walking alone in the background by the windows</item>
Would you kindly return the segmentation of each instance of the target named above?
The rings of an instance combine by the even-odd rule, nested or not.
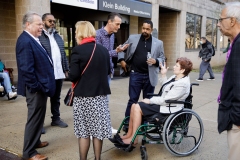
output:
[[[200,64],[199,78],[197,81],[203,81],[203,75],[206,71],[208,71],[210,78],[207,80],[215,80],[210,61],[213,55],[213,47],[212,44],[206,39],[206,37],[201,37],[200,43],[202,44],[202,49],[199,52],[198,57],[202,58],[202,62]]]

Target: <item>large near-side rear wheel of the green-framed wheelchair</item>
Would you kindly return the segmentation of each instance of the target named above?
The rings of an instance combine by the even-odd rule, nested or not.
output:
[[[196,112],[190,109],[172,114],[163,127],[163,142],[175,156],[193,153],[202,142],[203,123]]]

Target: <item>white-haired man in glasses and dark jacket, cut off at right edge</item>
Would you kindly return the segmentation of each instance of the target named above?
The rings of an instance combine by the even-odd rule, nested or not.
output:
[[[240,2],[226,3],[217,25],[231,40],[218,97],[218,131],[227,130],[228,159],[236,160],[240,157]]]

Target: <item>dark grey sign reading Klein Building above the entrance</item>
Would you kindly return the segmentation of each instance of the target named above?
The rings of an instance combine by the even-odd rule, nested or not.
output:
[[[152,5],[132,0],[99,0],[98,9],[138,17],[152,17]]]

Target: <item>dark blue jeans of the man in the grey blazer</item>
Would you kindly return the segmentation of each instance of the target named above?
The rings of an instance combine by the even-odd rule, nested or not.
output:
[[[125,117],[130,116],[130,111],[133,103],[137,103],[141,91],[143,91],[143,98],[151,98],[148,93],[153,93],[155,87],[153,87],[149,80],[148,73],[131,72],[129,78],[129,100],[125,112]]]

